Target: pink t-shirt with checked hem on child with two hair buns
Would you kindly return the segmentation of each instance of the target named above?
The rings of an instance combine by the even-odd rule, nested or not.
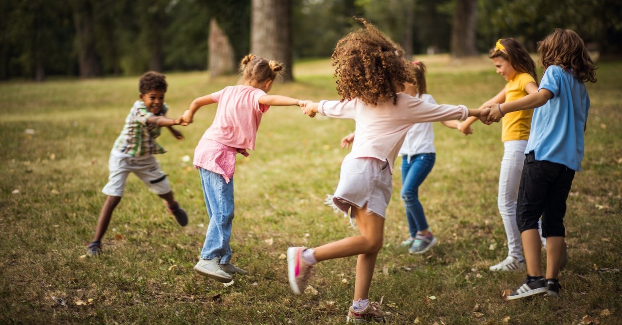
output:
[[[236,149],[255,149],[261,116],[270,108],[259,104],[264,95],[265,91],[252,86],[228,86],[211,94],[218,109],[195,148],[195,167],[223,175],[229,183],[235,172]]]

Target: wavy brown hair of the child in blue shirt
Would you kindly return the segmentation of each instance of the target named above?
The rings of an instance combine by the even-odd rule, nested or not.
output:
[[[596,82],[596,63],[587,53],[583,39],[570,29],[556,28],[538,42],[538,56],[542,68],[559,65],[582,83]]]

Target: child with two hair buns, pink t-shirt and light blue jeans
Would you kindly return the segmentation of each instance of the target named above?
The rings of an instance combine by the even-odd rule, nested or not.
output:
[[[239,66],[242,78],[238,85],[195,99],[182,117],[184,125],[190,124],[199,108],[218,103],[214,122],[199,141],[193,162],[199,170],[210,217],[201,259],[194,270],[218,282],[231,282],[232,273],[247,273],[230,263],[235,155],[248,156],[246,149],[255,149],[261,117],[270,106],[304,106],[307,103],[266,94],[282,68],[279,62],[246,55]]]

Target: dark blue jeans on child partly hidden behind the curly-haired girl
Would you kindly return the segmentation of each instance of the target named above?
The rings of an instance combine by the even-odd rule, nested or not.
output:
[[[406,219],[411,237],[415,237],[417,231],[424,231],[428,228],[424,208],[419,202],[419,185],[424,182],[434,167],[435,160],[436,153],[413,155],[410,163],[408,163],[407,155],[402,156],[402,192],[400,194],[406,206]]]

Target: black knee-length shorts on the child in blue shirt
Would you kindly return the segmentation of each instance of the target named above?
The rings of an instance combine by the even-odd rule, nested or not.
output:
[[[575,171],[565,165],[527,153],[516,201],[519,231],[538,229],[542,216],[542,237],[565,237],[566,199],[574,177]]]

